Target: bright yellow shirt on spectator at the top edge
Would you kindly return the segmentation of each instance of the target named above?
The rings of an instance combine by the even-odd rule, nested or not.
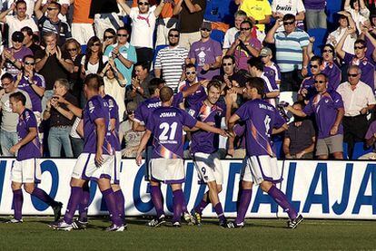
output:
[[[272,14],[272,7],[268,0],[243,0],[240,9],[255,20],[262,20],[265,15]],[[256,24],[256,26],[261,32],[265,30],[265,24]]]

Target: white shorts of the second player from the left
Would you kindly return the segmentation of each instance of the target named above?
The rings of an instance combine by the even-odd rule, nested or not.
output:
[[[107,178],[115,173],[114,155],[103,155],[104,163],[101,167],[95,165],[94,153],[81,153],[74,165],[72,178],[84,180],[97,180]]]

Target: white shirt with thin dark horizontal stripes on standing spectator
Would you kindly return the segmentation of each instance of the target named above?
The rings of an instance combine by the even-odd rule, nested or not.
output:
[[[188,57],[187,49],[183,47],[166,47],[157,53],[155,69],[162,69],[163,80],[175,90],[183,73],[183,64]]]

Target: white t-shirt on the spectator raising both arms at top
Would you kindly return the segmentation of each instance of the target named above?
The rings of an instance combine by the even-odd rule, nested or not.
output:
[[[129,14],[133,23],[131,44],[134,45],[134,47],[153,49],[153,33],[156,20],[153,12],[155,9],[155,5],[151,6],[147,14],[140,14],[138,7],[131,9],[131,13]]]

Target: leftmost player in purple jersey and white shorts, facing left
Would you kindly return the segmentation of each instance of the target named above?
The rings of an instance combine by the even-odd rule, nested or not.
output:
[[[40,143],[38,140],[38,129],[33,111],[25,108],[26,97],[21,92],[12,93],[9,96],[12,111],[19,115],[17,124],[18,143],[9,151],[17,152],[17,157],[11,170],[13,205],[15,217],[8,223],[22,223],[22,205],[24,196],[22,185],[25,191],[32,196],[41,199],[54,209],[54,220],[61,215],[63,204],[54,201],[44,190],[37,188],[35,183],[41,182],[42,171],[39,164],[41,157]]]

